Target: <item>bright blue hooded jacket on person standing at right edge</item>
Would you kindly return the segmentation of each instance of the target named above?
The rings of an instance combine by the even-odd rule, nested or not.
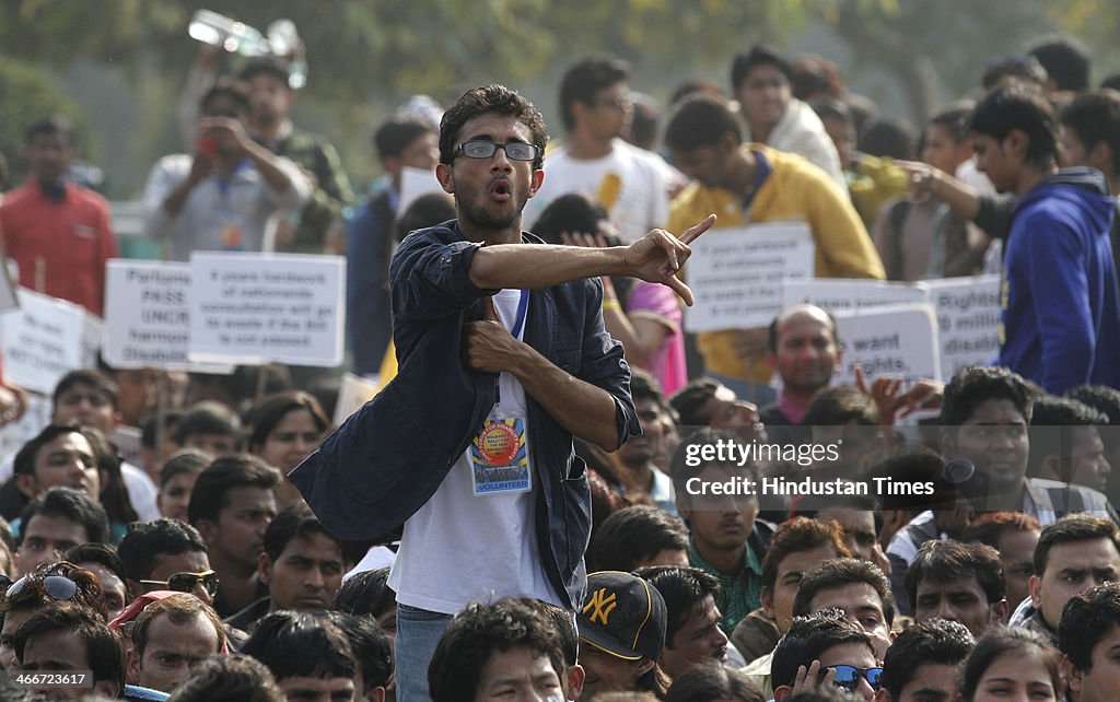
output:
[[[999,364],[1053,394],[1120,387],[1120,286],[1104,177],[1071,168],[1015,208],[1005,252]]]

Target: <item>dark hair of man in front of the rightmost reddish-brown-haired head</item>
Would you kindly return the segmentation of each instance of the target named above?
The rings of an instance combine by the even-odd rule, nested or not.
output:
[[[996,549],[982,543],[925,542],[906,569],[911,606],[917,607],[917,587],[923,581],[948,583],[964,578],[976,578],[989,605],[1007,599],[1004,569]]]

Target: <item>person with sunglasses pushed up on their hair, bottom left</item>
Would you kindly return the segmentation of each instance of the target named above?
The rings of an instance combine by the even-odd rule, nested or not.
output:
[[[0,667],[6,671],[17,667],[16,631],[53,602],[75,602],[100,612],[104,619],[104,601],[96,575],[65,561],[40,565],[4,589]]]

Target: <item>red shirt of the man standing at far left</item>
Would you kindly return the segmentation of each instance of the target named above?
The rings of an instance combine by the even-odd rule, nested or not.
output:
[[[55,203],[28,180],[4,195],[0,234],[21,286],[102,315],[105,261],[118,256],[105,198],[67,182]]]

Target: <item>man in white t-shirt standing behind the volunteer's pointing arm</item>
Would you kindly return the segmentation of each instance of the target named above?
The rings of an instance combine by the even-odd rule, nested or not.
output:
[[[549,153],[549,177],[525,207],[532,227],[561,195],[598,202],[623,241],[632,242],[669,218],[668,165],[622,139],[634,106],[626,62],[597,56],[571,66],[560,82],[564,143]]]

